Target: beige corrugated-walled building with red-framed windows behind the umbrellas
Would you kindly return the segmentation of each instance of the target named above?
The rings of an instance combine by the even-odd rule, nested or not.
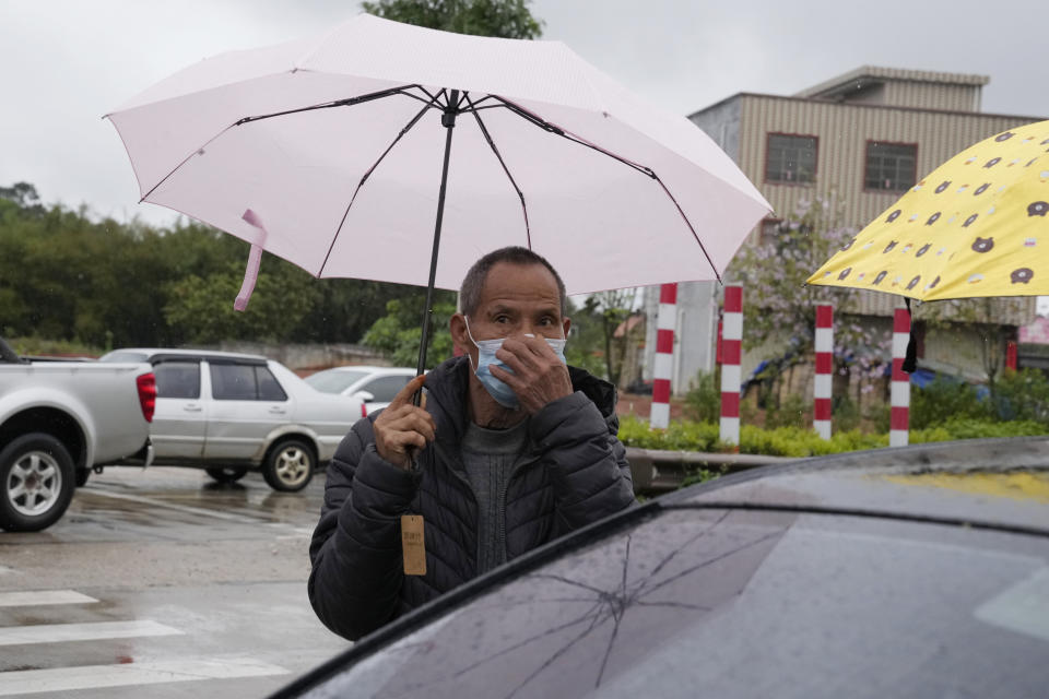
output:
[[[739,93],[689,119],[773,205],[776,213],[752,232],[747,244],[753,245],[763,236],[775,236],[780,221],[799,202],[815,197],[836,203],[841,225],[862,228],[959,151],[1045,119],[979,111],[981,90],[989,81],[986,75],[862,67],[792,96]],[[679,285],[675,393],[687,390],[698,371],[714,369],[717,291],[712,283]],[[657,304],[658,298],[646,300],[649,318],[655,319]],[[901,305],[894,295],[856,292],[842,310],[889,317]],[[1035,298],[1002,303],[995,317],[1005,325],[1026,324],[1035,317]],[[650,353],[655,322],[648,325]],[[931,360],[951,365],[950,357],[935,358],[932,344]],[[650,360],[645,364],[651,366]],[[747,364],[744,358],[744,370]],[[959,359],[956,367],[964,364]]]

